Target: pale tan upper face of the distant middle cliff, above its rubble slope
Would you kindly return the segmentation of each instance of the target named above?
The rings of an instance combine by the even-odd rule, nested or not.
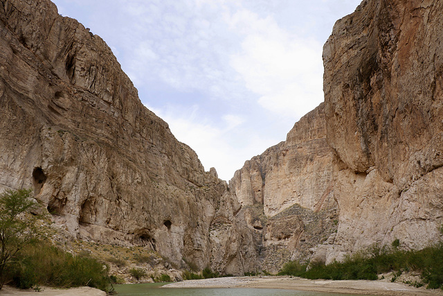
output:
[[[321,104],[294,125],[286,141],[246,161],[230,187],[242,204],[264,204],[264,214],[275,216],[293,204],[321,207],[331,179],[332,150]]]

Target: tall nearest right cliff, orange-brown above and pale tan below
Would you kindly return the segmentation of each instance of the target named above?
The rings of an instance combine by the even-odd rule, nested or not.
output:
[[[325,261],[379,243],[440,241],[443,3],[363,1],[323,52],[327,142],[340,210]]]

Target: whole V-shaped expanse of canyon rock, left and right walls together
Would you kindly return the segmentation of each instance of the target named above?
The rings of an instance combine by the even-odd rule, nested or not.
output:
[[[0,0],[0,190],[33,188],[67,239],[233,275],[441,241],[442,11],[365,0],[337,21],[325,103],[228,185],[100,37],[48,0]]]

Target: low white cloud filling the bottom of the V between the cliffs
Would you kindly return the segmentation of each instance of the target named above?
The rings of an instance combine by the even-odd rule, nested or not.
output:
[[[247,159],[275,144],[273,140],[260,137],[257,130],[248,134],[235,132],[244,122],[244,119],[235,114],[224,115],[225,125],[218,127],[199,117],[199,107],[196,105],[185,110],[178,106],[170,106],[166,110],[151,106],[147,108],[168,122],[172,134],[179,141],[186,139],[185,143],[195,150],[205,170],[215,167],[222,180],[230,180]],[[235,146],[230,143],[229,140],[239,143],[239,137],[244,145]]]

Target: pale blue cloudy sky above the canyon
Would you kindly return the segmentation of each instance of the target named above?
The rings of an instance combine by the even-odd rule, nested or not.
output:
[[[323,44],[360,1],[53,0],[223,180],[324,101]]]

